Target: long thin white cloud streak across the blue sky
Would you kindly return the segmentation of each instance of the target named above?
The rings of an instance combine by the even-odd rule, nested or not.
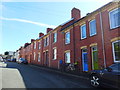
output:
[[[25,20],[25,19],[0,17],[0,20],[9,20],[9,21],[25,22],[25,23],[31,23],[31,24],[34,24],[34,25],[38,25],[38,26],[42,26],[42,27],[49,27],[49,28],[55,28],[55,27],[56,27],[56,26],[54,26],[54,25],[48,25],[48,24],[39,23],[39,22],[34,22],[34,21],[29,21],[29,20]]]

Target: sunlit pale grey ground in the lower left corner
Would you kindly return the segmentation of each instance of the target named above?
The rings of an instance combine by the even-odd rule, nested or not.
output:
[[[2,88],[25,88],[20,72],[17,69],[7,68],[5,62],[0,62],[0,90]]]

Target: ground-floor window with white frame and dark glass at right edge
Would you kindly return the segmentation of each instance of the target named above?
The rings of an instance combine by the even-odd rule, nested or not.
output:
[[[120,40],[112,43],[114,62],[120,62]]]

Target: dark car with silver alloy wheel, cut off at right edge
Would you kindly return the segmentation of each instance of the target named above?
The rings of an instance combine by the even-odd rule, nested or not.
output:
[[[90,73],[90,84],[94,87],[120,88],[120,63]]]

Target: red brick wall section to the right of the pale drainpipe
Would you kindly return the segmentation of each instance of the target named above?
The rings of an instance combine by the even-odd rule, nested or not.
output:
[[[116,29],[110,29],[109,12],[107,10],[102,12],[102,18],[103,18],[103,28],[104,28],[106,64],[107,66],[109,66],[112,63],[114,63],[111,39],[120,36],[119,35],[120,27]]]

